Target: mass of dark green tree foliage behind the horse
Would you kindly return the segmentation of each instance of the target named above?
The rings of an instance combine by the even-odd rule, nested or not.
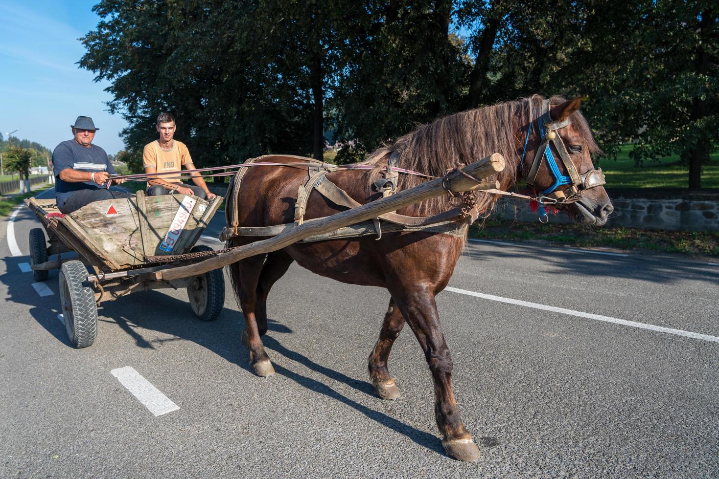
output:
[[[696,187],[719,141],[712,4],[101,0],[81,66],[111,82],[134,159],[160,111],[202,166],[320,157],[326,131],[348,162],[438,116],[559,93],[587,96],[605,150],[679,154]]]

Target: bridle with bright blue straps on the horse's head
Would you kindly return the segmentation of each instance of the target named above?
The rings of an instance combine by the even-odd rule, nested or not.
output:
[[[554,198],[558,203],[577,202],[582,199],[583,190],[604,185],[606,182],[601,168],[590,169],[589,171],[580,174],[577,172],[577,168],[574,167],[572,159],[569,158],[567,148],[564,147],[562,138],[559,134],[557,134],[557,130],[562,129],[571,123],[571,118],[567,118],[564,121],[552,121],[551,116],[549,115],[549,100],[542,101],[541,115],[537,118],[539,138],[541,142],[539,144],[539,148],[537,148],[536,154],[534,155],[534,160],[531,168],[529,169],[529,174],[526,177],[526,182],[529,187],[536,191],[534,182],[536,181],[537,174],[539,173],[541,163],[544,159],[546,159],[549,171],[551,172],[552,177],[554,177],[554,183],[545,190],[542,190],[541,194]],[[527,141],[529,140],[529,133],[531,129],[530,121],[527,128],[527,137],[524,141],[524,151],[522,152],[520,168],[521,164],[524,162],[524,154],[526,153]],[[549,147],[550,142],[554,144],[554,149],[557,150],[557,154],[559,154],[559,159],[562,160],[562,164],[564,165],[564,170],[567,172],[567,175],[562,175],[562,172],[559,170],[559,162],[557,162],[557,159],[554,157],[554,153]],[[570,192],[569,196],[565,195],[564,191],[559,190],[559,187],[564,185],[571,185],[567,190]]]

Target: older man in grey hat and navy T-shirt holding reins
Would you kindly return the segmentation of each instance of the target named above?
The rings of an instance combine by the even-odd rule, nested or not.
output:
[[[52,151],[52,169],[57,179],[55,203],[60,213],[72,213],[93,201],[134,196],[104,187],[115,169],[105,150],[92,144],[98,130],[92,118],[78,116],[70,128],[73,139],[63,141]],[[124,180],[111,182],[117,184]]]

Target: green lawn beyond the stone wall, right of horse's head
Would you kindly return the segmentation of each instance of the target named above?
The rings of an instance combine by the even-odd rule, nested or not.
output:
[[[599,166],[607,177],[608,188],[656,188],[689,187],[689,167],[681,164],[676,156],[660,159],[659,162],[644,162],[634,166],[629,158],[632,145],[622,145],[617,159],[599,159]],[[711,163],[702,172],[703,188],[719,188],[719,152],[710,155]]]

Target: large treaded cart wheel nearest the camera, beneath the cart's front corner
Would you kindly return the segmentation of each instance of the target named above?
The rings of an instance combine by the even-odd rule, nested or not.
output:
[[[87,281],[88,270],[76,259],[60,266],[60,304],[65,330],[75,348],[87,348],[97,338],[95,292]]]

